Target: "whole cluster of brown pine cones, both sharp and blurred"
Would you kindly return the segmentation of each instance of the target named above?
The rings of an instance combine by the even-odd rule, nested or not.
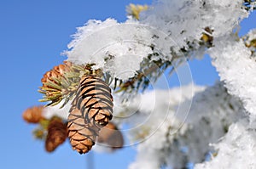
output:
[[[59,93],[67,92],[61,89],[60,79],[65,80],[65,71],[71,71],[71,66],[71,63],[64,62],[64,65],[55,66],[53,70],[44,74],[41,81],[43,87],[49,90],[45,91],[45,95],[48,94],[52,98],[51,101],[54,99],[59,101],[61,98]],[[56,96],[55,91],[58,92]],[[42,106],[27,109],[23,113],[24,120],[32,123],[45,121],[42,115],[43,109]],[[45,127],[47,130],[45,149],[49,152],[55,150],[67,137],[73,149],[79,154],[90,151],[96,139],[99,143],[106,143],[113,149],[121,148],[124,142],[122,134],[113,123],[109,123],[112,112],[113,97],[108,84],[100,76],[84,74],[77,87],[67,122],[59,117],[48,120]]]

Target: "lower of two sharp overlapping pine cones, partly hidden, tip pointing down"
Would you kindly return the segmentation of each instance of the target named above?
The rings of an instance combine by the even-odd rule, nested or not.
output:
[[[82,112],[73,107],[68,115],[67,130],[73,149],[79,154],[84,154],[95,144],[100,128],[91,123],[85,123]]]

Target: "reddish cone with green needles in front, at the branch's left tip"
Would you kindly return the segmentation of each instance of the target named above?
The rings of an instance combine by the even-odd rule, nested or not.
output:
[[[41,79],[43,86],[38,90],[39,93],[44,94],[41,102],[49,102],[47,105],[56,105],[65,101],[61,105],[63,107],[67,102],[73,99],[81,75],[97,75],[102,76],[102,70],[92,70],[91,64],[87,65],[73,65],[71,62],[64,61],[63,65],[57,65],[52,70],[47,71]]]

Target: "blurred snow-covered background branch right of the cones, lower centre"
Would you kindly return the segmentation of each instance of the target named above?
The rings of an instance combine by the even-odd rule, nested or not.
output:
[[[117,116],[135,113],[122,122],[132,127],[140,124],[137,132],[130,134],[131,141],[143,141],[138,144],[137,160],[131,169],[182,168],[188,162],[204,161],[205,155],[213,150],[208,144],[216,143],[230,124],[243,115],[241,103],[227,93],[221,82],[205,90],[194,87],[194,97],[190,89],[187,86],[143,93],[116,110]],[[185,107],[190,104],[188,115]]]

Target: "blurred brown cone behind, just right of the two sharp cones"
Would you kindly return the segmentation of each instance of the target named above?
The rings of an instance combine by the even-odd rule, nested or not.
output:
[[[102,127],[97,142],[107,144],[112,149],[120,149],[124,145],[124,138],[113,122],[109,122],[106,127]]]

